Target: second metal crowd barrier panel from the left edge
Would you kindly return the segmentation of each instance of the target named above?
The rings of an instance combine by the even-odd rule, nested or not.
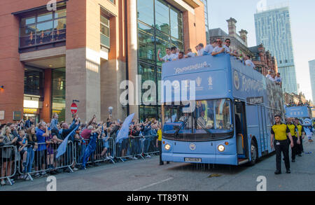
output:
[[[29,179],[33,181],[31,175],[40,173],[45,175],[47,171],[67,168],[73,172],[71,169],[74,163],[73,142],[68,141],[66,152],[56,159],[59,145],[60,143],[38,143],[37,149],[27,148],[26,162],[22,162],[22,157],[18,161],[19,174],[27,174]]]

